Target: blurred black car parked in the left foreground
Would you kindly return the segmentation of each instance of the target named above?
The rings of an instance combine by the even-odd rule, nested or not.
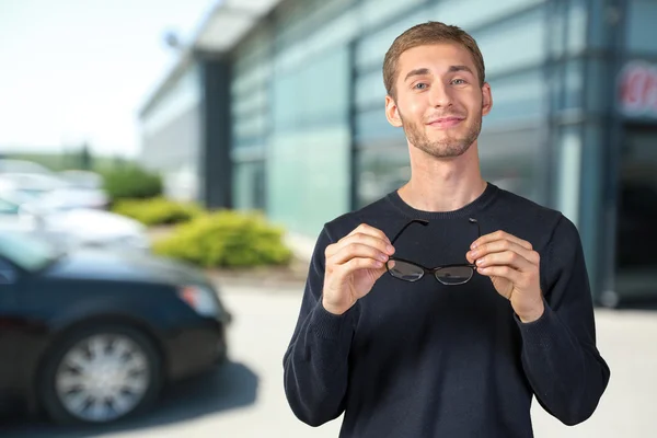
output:
[[[189,266],[0,234],[0,410],[20,402],[64,423],[126,417],[162,384],[222,362],[229,321]]]

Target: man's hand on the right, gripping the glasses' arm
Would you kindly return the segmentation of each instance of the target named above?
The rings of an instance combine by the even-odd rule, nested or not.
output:
[[[541,318],[544,311],[540,284],[540,256],[531,243],[504,231],[482,235],[465,255],[477,272],[491,277],[499,295],[511,302],[522,322]]]

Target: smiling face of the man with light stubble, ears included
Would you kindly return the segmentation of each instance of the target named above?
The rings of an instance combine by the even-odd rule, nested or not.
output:
[[[458,44],[414,47],[400,57],[397,74],[396,99],[385,100],[389,122],[430,155],[463,154],[492,106],[491,88],[480,87],[470,51]]]

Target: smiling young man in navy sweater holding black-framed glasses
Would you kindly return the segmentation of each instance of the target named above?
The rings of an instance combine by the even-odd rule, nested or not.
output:
[[[473,38],[442,23],[385,55],[385,115],[412,176],[319,237],[284,358],[302,422],[344,413],[341,437],[527,438],[532,396],[566,425],[596,410],[610,371],[579,234],[482,178],[484,71]]]

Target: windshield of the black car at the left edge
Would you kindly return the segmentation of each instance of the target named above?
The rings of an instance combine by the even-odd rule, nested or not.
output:
[[[0,233],[0,255],[25,270],[39,270],[64,253],[49,242],[20,233]]]

